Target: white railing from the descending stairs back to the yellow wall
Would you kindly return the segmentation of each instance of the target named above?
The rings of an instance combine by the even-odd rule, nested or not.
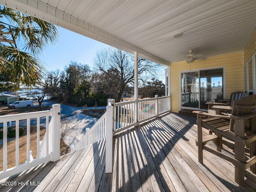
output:
[[[138,123],[170,111],[170,96],[115,103],[108,99],[106,113],[92,126],[72,151],[106,138],[106,173],[112,172],[112,137]]]

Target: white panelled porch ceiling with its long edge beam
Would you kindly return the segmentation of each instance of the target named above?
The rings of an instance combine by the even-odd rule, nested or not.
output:
[[[243,51],[255,0],[0,0],[84,36],[168,66],[194,50],[206,57]],[[183,33],[180,38],[173,36]]]

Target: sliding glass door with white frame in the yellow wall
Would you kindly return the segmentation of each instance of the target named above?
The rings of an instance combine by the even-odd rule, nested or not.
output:
[[[207,109],[223,98],[223,68],[181,72],[181,107]]]

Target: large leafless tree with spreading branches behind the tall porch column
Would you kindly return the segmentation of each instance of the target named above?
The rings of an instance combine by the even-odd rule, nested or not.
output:
[[[108,77],[108,80],[119,81],[116,100],[120,102],[126,85],[134,84],[134,55],[116,48],[105,48],[96,53],[94,65]],[[144,58],[138,58],[138,76],[141,81],[155,76],[158,64]],[[109,76],[110,72],[116,75]],[[112,73],[112,74],[114,74]],[[106,82],[106,79],[102,79]]]

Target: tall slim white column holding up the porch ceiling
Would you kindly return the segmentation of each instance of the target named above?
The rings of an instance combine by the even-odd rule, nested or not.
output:
[[[138,90],[138,52],[134,52],[134,118],[135,126],[138,126],[138,102],[139,102],[139,90]]]

